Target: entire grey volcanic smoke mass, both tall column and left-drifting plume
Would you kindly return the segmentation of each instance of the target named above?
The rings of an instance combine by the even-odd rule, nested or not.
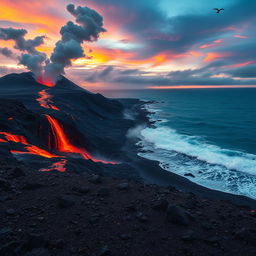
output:
[[[19,56],[19,64],[26,66],[42,82],[55,83],[60,74],[65,74],[65,67],[71,66],[71,60],[86,57],[82,44],[97,41],[100,33],[106,31],[103,17],[95,10],[81,6],[75,8],[69,4],[67,11],[75,17],[77,24],[68,21],[61,28],[61,39],[56,43],[50,59],[36,50],[36,47],[44,43],[44,36],[26,40],[25,29],[0,28],[0,39],[13,40],[14,48],[23,52]],[[0,53],[7,57],[12,55],[8,48],[0,48]]]

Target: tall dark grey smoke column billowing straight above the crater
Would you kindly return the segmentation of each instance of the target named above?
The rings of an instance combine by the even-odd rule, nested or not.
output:
[[[60,74],[64,74],[65,67],[71,66],[71,60],[86,57],[82,44],[97,41],[99,34],[105,32],[103,18],[95,10],[73,4],[67,10],[76,18],[76,23],[67,22],[60,30],[61,40],[56,43],[50,61],[45,66],[45,78],[54,82]]]

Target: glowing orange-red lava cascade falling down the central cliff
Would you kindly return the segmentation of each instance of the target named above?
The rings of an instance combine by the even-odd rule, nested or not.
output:
[[[80,154],[86,160],[92,160],[93,162],[101,162],[104,164],[116,164],[115,162],[108,162],[104,160],[98,160],[93,158],[85,149],[77,148],[76,146],[72,145],[68,140],[63,128],[59,124],[59,122],[49,115],[45,115],[48,122],[50,123],[52,133],[55,138],[55,145],[57,146],[57,150],[60,152],[66,153],[76,153]]]

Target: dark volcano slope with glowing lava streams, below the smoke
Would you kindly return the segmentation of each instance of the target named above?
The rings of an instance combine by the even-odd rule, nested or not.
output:
[[[134,121],[127,106],[61,76],[55,86],[32,73],[0,78],[0,151],[38,170],[100,172],[127,165],[122,147]],[[125,168],[125,167],[124,167]]]

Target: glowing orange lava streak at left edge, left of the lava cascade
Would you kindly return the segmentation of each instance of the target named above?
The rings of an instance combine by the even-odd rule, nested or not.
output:
[[[37,146],[31,145],[27,142],[26,138],[22,135],[13,135],[11,133],[7,133],[7,132],[0,132],[0,134],[5,136],[5,139],[7,141],[11,141],[11,142],[15,142],[15,143],[21,143],[23,145],[26,145],[25,149],[27,150],[27,152],[23,152],[23,151],[18,151],[18,150],[10,150],[11,153],[13,154],[30,154],[30,155],[38,155],[38,156],[42,156],[45,158],[54,158],[54,157],[60,157],[57,155],[54,155],[44,149],[41,149]],[[7,142],[5,140],[0,140],[0,142]]]

